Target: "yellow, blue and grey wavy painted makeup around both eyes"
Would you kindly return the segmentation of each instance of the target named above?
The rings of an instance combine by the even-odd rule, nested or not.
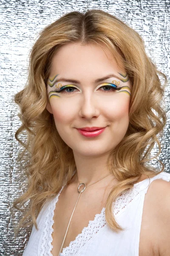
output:
[[[129,78],[127,76],[127,74],[123,75],[122,73],[119,73],[123,78],[118,78],[120,81],[122,81],[123,83],[126,83],[127,81],[129,81]],[[74,92],[66,92],[65,89],[66,88],[69,88],[71,90],[79,90],[78,88],[75,87],[74,84],[68,84],[68,85],[65,85],[65,86],[62,86],[61,83],[58,83],[58,81],[61,81],[61,80],[68,80],[69,79],[56,79],[58,75],[54,76],[54,77],[51,77],[48,79],[48,85],[52,88],[56,88],[54,90],[51,90],[49,93],[48,93],[48,97],[49,97],[49,100],[51,98],[60,98],[60,96],[58,95],[58,93],[62,93],[63,95],[65,94],[72,94]],[[101,79],[102,80],[102,79]],[[105,79],[103,79],[105,80]],[[120,81],[116,81],[116,80],[113,80],[112,83],[102,83],[102,86],[98,87],[99,88],[105,88],[105,87],[108,87],[109,89],[111,90],[102,90],[103,92],[105,93],[111,93],[111,92],[115,92],[115,93],[127,93],[128,95],[131,95],[131,89],[130,87],[128,86],[119,86],[120,84]],[[77,81],[74,81],[73,82],[77,83]]]

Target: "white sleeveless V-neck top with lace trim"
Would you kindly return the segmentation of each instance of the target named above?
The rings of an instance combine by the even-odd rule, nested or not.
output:
[[[96,214],[88,227],[84,227],[68,247],[63,248],[60,256],[139,256],[139,235],[142,222],[144,196],[153,180],[170,181],[170,174],[160,174],[134,184],[130,191],[124,192],[115,201],[114,215],[118,224],[126,228],[116,233],[105,222],[105,208]],[[51,201],[47,201],[37,217],[35,226],[23,253],[23,256],[52,256],[52,232],[54,209],[57,206],[59,193]]]

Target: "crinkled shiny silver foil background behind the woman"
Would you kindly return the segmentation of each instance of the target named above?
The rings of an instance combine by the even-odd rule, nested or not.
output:
[[[0,256],[21,256],[30,234],[29,228],[24,228],[14,240],[13,226],[20,213],[12,211],[12,202],[25,189],[26,162],[24,159],[22,163],[17,161],[23,148],[14,138],[20,121],[18,108],[12,103],[11,97],[26,83],[28,52],[38,32],[67,12],[87,9],[109,12],[139,32],[148,55],[170,79],[169,0],[0,0]],[[169,172],[169,85],[164,106],[168,120],[159,159],[164,162],[165,171]],[[24,134],[22,138],[25,138]],[[155,152],[156,148],[153,154]],[[152,163],[158,166],[156,161]]]

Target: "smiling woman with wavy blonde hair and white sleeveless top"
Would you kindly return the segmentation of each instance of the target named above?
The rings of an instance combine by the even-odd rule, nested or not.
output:
[[[166,84],[139,34],[104,11],[41,32],[15,95],[31,153],[14,203],[30,200],[23,256],[169,255],[170,174],[146,164],[166,121],[158,75]]]

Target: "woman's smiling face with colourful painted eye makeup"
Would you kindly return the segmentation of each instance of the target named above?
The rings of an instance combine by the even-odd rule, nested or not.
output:
[[[96,44],[64,45],[52,58],[48,77],[46,108],[54,115],[62,140],[84,156],[107,154],[123,139],[129,124],[130,80],[105,52]],[[77,130],[84,127],[105,129],[86,137]]]

